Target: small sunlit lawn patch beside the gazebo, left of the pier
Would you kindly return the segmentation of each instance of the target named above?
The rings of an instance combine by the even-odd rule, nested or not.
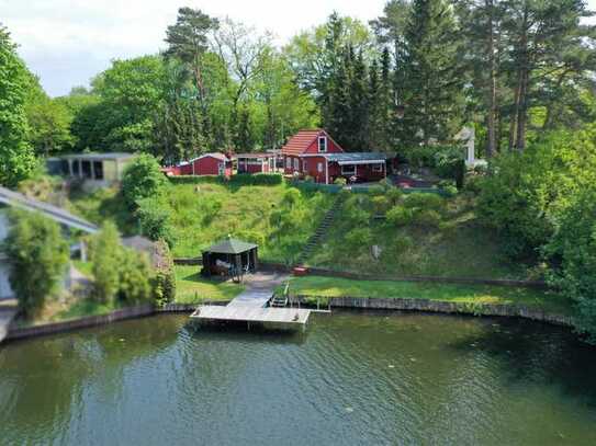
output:
[[[199,274],[200,266],[176,265],[176,302],[201,304],[204,300],[230,300],[245,286],[233,282],[209,281]]]

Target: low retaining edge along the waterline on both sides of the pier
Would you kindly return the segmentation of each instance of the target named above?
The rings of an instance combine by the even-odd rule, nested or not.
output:
[[[461,315],[474,317],[503,317],[520,318],[535,322],[542,322],[559,327],[573,328],[573,319],[570,316],[553,315],[541,309],[508,304],[461,304],[441,300],[417,299],[417,298],[378,298],[378,297],[333,297],[323,296],[295,296],[301,305],[316,308],[316,300],[319,299],[333,308],[353,310],[384,310],[384,311],[416,311],[421,313],[436,315]],[[327,304],[328,302],[328,304]],[[211,305],[226,305],[227,301],[211,302]],[[150,305],[120,309],[108,315],[89,316],[68,321],[52,322],[41,325],[20,327],[9,329],[4,342],[20,341],[38,338],[49,334],[66,333],[81,329],[106,325],[112,322],[139,319],[150,316],[167,313],[192,312],[196,308],[194,304],[168,304],[162,308]]]

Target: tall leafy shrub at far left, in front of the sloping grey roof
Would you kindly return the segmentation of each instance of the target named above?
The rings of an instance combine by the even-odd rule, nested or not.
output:
[[[68,243],[59,225],[41,214],[13,211],[10,219],[12,227],[4,241],[11,266],[10,285],[19,308],[31,317],[58,288],[68,265]]]

